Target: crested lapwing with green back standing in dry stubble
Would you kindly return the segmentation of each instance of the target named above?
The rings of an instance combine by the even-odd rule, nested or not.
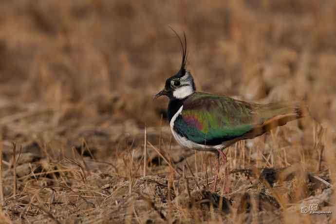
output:
[[[174,30],[173,30],[174,31]],[[175,32],[175,31],[174,31]],[[227,96],[196,91],[194,78],[187,70],[187,38],[182,46],[179,71],[168,78],[165,87],[153,99],[169,98],[168,122],[174,139],[184,147],[216,154],[216,170],[212,192],[216,191],[220,157],[226,163],[224,149],[241,140],[253,139],[287,122],[302,118],[301,102],[244,102]],[[227,167],[225,192],[229,192]]]

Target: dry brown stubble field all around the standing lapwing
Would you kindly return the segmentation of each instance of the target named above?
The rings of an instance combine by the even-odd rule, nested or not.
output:
[[[169,26],[198,90],[309,106],[225,150],[227,194],[152,100],[181,63]],[[3,0],[0,222],[336,223],[335,37],[335,0]]]

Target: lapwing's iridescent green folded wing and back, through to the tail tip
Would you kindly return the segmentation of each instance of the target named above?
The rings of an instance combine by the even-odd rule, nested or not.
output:
[[[261,105],[196,92],[183,103],[174,130],[193,142],[218,145],[256,137],[301,117],[301,112],[298,103]]]

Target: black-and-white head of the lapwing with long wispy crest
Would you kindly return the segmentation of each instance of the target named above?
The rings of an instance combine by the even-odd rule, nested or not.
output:
[[[173,30],[174,31],[174,30]],[[175,32],[175,31],[174,31]],[[176,34],[176,32],[175,32]],[[176,34],[177,35],[177,34]],[[182,46],[182,64],[180,70],[172,77],[166,80],[166,85],[163,90],[154,96],[158,98],[160,96],[167,96],[170,100],[179,99],[182,100],[187,96],[193,94],[196,91],[194,79],[191,76],[190,71],[186,69],[187,63],[187,38],[184,34],[185,45],[181,41],[181,38],[177,35]]]

